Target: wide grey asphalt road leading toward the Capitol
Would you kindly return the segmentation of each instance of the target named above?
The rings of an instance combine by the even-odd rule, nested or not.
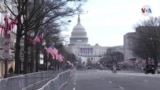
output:
[[[160,90],[160,75],[107,70],[76,71],[62,90]]]

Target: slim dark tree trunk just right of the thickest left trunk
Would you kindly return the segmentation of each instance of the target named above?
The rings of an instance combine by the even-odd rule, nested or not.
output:
[[[24,38],[24,74],[28,73],[28,39],[27,34]]]

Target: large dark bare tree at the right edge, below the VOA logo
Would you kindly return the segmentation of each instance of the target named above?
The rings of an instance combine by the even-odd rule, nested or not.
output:
[[[136,33],[130,38],[130,49],[139,58],[148,60],[152,58],[155,66],[160,55],[160,18],[151,17],[136,26]]]

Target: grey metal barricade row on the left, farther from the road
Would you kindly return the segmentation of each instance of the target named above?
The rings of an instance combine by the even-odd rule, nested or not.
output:
[[[0,90],[37,90],[59,72],[42,71],[0,80]]]

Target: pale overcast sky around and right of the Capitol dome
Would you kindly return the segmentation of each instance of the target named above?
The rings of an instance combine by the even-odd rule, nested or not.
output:
[[[141,13],[141,8],[149,5],[150,16],[160,15],[160,0],[88,0],[83,6],[87,14],[81,15],[81,24],[85,27],[89,44],[102,46],[123,45],[123,36],[133,32],[134,25],[149,18]],[[77,16],[68,25],[67,34],[71,35],[77,24]]]

